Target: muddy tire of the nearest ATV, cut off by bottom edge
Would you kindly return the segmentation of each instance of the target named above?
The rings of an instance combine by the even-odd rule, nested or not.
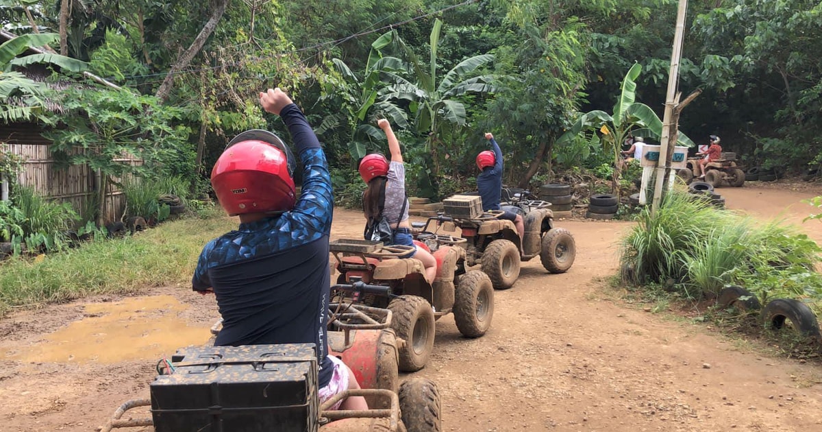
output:
[[[399,386],[399,411],[408,432],[440,432],[440,392],[430,379],[412,378]]]

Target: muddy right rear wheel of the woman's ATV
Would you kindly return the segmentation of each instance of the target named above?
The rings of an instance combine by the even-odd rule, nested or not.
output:
[[[399,351],[399,370],[415,372],[423,369],[434,349],[434,310],[431,304],[416,295],[400,295],[388,304],[394,318],[391,328],[405,341]]]

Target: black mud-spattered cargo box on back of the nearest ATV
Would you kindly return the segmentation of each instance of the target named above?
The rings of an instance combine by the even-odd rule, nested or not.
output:
[[[190,347],[150,384],[156,432],[315,432],[314,344]]]

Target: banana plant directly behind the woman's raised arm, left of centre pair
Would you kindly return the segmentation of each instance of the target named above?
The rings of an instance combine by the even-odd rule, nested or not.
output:
[[[331,114],[323,118],[322,123],[316,129],[316,133],[322,134],[341,125],[350,128],[348,140],[349,154],[353,160],[358,160],[366,155],[369,144],[380,142],[386,139],[386,134],[374,126],[371,121],[375,115],[382,115],[390,118],[392,124],[399,128],[408,128],[408,115],[404,109],[395,105],[394,102],[380,97],[380,91],[386,86],[381,81],[380,76],[385,72],[400,72],[406,69],[404,63],[399,58],[382,57],[381,49],[391,42],[389,35],[382,35],[372,44],[371,53],[368,60],[363,79],[357,75],[339,58],[333,58],[337,72],[343,77],[344,84],[335,86],[330,91],[338,97],[342,97],[342,104],[345,112]],[[327,96],[324,96],[327,98]]]

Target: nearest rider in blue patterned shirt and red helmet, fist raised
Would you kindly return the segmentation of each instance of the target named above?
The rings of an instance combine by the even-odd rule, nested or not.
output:
[[[307,119],[283,91],[260,93],[260,104],[289,128],[302,160],[302,194],[295,199],[294,159],[275,134],[242,132],[211,171],[220,205],[239,216],[237,230],[203,248],[192,287],[217,297],[223,329],[215,346],[314,343],[321,402],[359,388],[343,362],[328,355],[326,321],[334,198],[326,155]],[[363,397],[332,409],[364,410]]]

